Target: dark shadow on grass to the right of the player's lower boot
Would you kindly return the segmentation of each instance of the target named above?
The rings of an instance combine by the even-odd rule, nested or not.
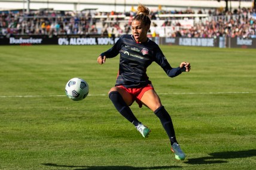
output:
[[[215,153],[210,153],[209,156],[188,159],[188,161],[184,163],[188,163],[188,164],[227,163],[227,159],[245,158],[245,157],[252,157],[252,156],[256,156],[255,149],[234,151],[234,152],[215,152]]]

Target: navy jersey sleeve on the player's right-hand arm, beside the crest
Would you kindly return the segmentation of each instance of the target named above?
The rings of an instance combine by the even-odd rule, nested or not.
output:
[[[180,75],[182,72],[185,72],[185,67],[182,69],[180,67],[172,68],[170,66],[170,64],[168,63],[166,57],[164,56],[163,52],[161,51],[161,49],[158,46],[155,51],[156,51],[156,63],[162,67],[164,72],[166,72],[166,74],[170,78],[174,78],[174,77]]]

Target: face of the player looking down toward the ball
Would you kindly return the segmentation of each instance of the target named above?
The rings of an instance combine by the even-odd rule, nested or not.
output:
[[[149,29],[150,26],[145,26],[141,21],[132,21],[132,34],[136,42],[147,41],[147,33]]]

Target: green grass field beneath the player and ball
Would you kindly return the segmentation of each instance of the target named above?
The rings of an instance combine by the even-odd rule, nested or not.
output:
[[[145,139],[108,99],[119,57],[96,58],[110,47],[0,47],[0,169],[255,169],[256,49],[161,46],[171,66],[191,63],[176,78],[148,68],[187,154],[178,161],[151,110],[131,106]],[[74,77],[90,86],[83,101],[65,96]]]

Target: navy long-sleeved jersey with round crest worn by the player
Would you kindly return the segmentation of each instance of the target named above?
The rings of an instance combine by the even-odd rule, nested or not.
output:
[[[148,39],[147,42],[136,43],[133,35],[122,35],[108,51],[100,54],[112,58],[120,54],[119,73],[115,86],[123,85],[127,88],[143,87],[150,83],[147,67],[155,61],[170,77],[181,74],[184,69],[172,68],[159,45]]]

